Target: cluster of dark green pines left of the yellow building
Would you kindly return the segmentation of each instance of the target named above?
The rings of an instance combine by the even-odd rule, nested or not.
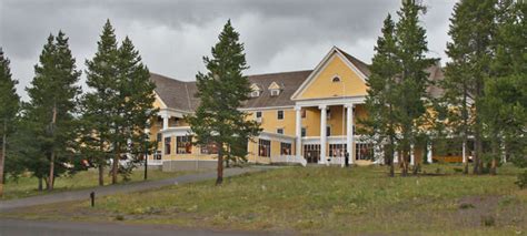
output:
[[[16,93],[9,59],[0,50],[0,196],[4,173],[16,178],[28,172],[39,191],[52,191],[56,177],[99,168],[99,185],[109,167],[111,183],[125,179],[133,163],[150,152],[149,122],[153,122],[155,84],[138,50],[127,37],[118,43],[108,20],[92,59],[86,60],[88,91],[62,31],[50,34],[34,65],[28,102]],[[122,158],[129,164],[119,165]]]

